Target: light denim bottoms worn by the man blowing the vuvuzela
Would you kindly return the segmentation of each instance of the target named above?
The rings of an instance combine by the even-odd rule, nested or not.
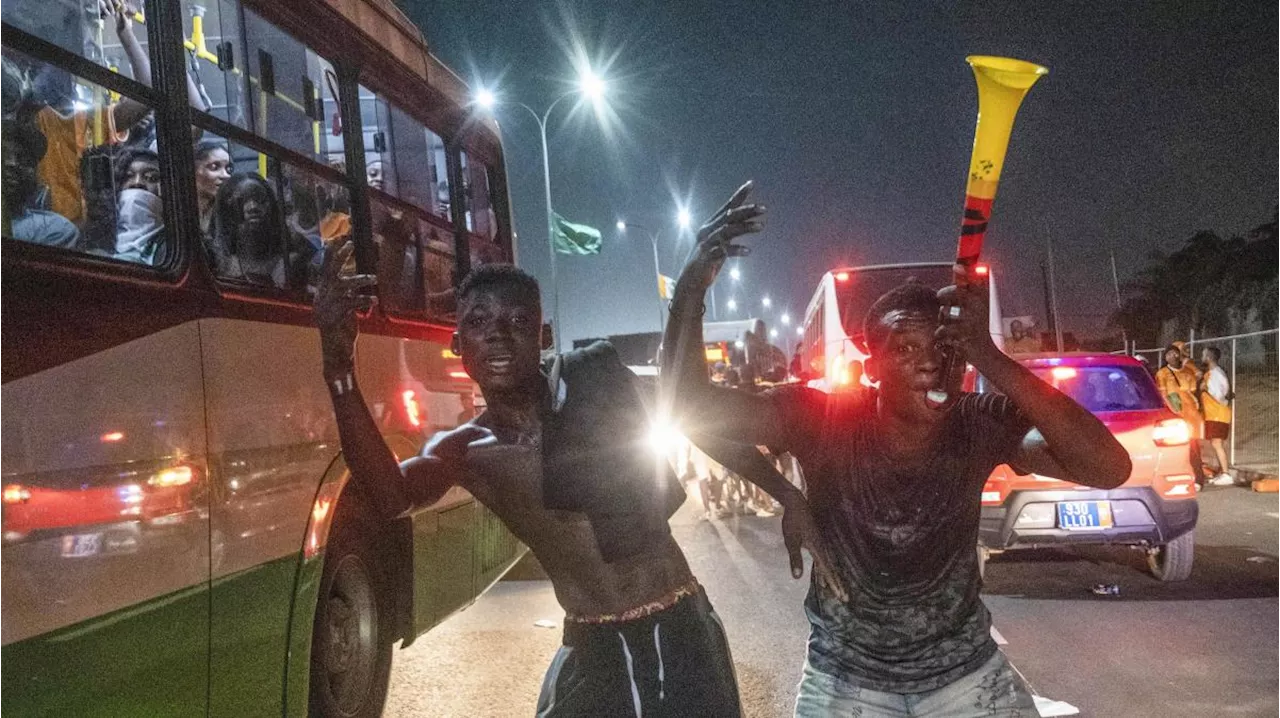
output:
[[[805,662],[796,718],[1037,718],[1032,692],[996,651],[977,671],[923,694],[887,694],[823,673]]]

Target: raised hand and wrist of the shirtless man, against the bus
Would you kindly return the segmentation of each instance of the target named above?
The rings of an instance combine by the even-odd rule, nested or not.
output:
[[[360,289],[378,283],[375,275],[342,271],[355,248],[348,237],[334,241],[325,252],[324,266],[320,267],[315,316],[316,326],[320,328],[325,376],[351,371],[355,363],[356,335],[360,333],[356,312],[369,311],[375,302],[375,297],[360,293]]]

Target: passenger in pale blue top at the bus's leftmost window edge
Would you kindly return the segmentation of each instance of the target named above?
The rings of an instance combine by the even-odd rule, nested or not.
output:
[[[13,119],[0,120],[0,155],[4,159],[4,202],[9,215],[8,233],[13,239],[74,250],[79,230],[58,212],[38,207],[38,170],[47,142],[32,120],[35,108],[18,110]],[[4,228],[0,228],[4,230]]]

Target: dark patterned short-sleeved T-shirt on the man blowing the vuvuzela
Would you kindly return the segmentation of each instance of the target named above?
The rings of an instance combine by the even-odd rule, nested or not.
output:
[[[963,394],[923,468],[895,466],[876,429],[876,393],[787,387],[765,394],[805,472],[814,521],[849,591],[810,584],[809,662],[887,692],[924,692],[996,651],[978,598],[982,486],[1030,429],[1002,394]]]

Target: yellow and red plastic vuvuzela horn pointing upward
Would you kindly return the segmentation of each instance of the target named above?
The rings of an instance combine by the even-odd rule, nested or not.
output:
[[[982,256],[982,241],[987,235],[991,207],[996,201],[1000,173],[1005,166],[1005,152],[1009,150],[1014,118],[1027,91],[1048,73],[1047,68],[1010,58],[970,55],[965,60],[973,67],[974,78],[978,81],[978,127],[974,129],[973,156],[969,160],[969,179],[965,184],[964,219],[960,223],[960,244],[956,248],[956,287],[984,279],[984,275],[978,273],[978,259]],[[959,311],[963,311],[959,305],[943,306],[943,324],[956,321]],[[964,367],[960,353],[955,347],[947,353],[943,370],[938,375],[938,385],[925,397],[931,406],[936,408],[946,406],[959,389],[957,370]]]

